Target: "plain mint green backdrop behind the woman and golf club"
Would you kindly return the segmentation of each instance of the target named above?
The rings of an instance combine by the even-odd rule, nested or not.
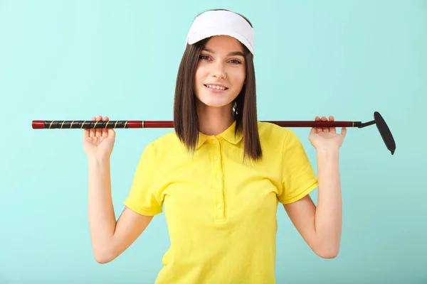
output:
[[[376,126],[347,131],[337,258],[315,256],[278,208],[278,283],[426,283],[427,1],[204,3],[0,1],[0,283],[154,282],[169,245],[164,215],[115,261],[96,263],[83,131],[31,121],[172,119],[188,28],[217,8],[255,27],[259,119],[369,121],[379,111],[396,139],[391,155]],[[117,217],[144,147],[169,131],[117,130]],[[317,171],[309,129],[294,131]]]

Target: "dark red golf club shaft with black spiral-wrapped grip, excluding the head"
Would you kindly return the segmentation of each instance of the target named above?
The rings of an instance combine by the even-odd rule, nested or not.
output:
[[[359,121],[262,121],[281,127],[356,127]],[[144,129],[173,128],[174,121],[33,120],[33,129]]]

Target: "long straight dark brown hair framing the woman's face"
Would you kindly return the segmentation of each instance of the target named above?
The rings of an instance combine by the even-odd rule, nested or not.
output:
[[[228,11],[223,9],[209,11],[218,10]],[[248,21],[246,17],[242,17]],[[252,26],[250,21],[248,23]],[[199,61],[199,54],[208,40],[209,38],[206,38],[194,45],[186,45],[176,77],[174,129],[179,140],[191,152],[195,150],[199,138],[199,120],[196,110],[196,96],[194,94],[194,74]],[[240,94],[233,101],[233,117],[236,120],[236,133],[238,131],[243,132],[243,158],[249,157],[252,160],[259,160],[262,157],[262,150],[258,135],[253,54],[245,45],[242,44],[242,46],[246,60],[246,84],[243,85]]]

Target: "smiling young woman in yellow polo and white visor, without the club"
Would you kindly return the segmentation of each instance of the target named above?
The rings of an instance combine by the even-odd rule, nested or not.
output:
[[[295,133],[257,120],[253,34],[238,13],[196,17],[176,80],[175,131],[144,149],[117,222],[110,185],[115,131],[85,130],[97,262],[117,258],[164,212],[171,246],[157,283],[275,283],[278,203],[318,256],[337,256],[346,129],[311,129],[317,179]],[[316,187],[317,207],[309,195]]]

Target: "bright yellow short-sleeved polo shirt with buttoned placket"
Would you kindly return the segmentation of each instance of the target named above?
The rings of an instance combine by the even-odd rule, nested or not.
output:
[[[243,163],[235,126],[200,133],[194,155],[174,132],[142,153],[125,205],[165,214],[171,246],[157,284],[275,283],[278,202],[300,200],[317,177],[295,133],[266,122],[263,160]]]

